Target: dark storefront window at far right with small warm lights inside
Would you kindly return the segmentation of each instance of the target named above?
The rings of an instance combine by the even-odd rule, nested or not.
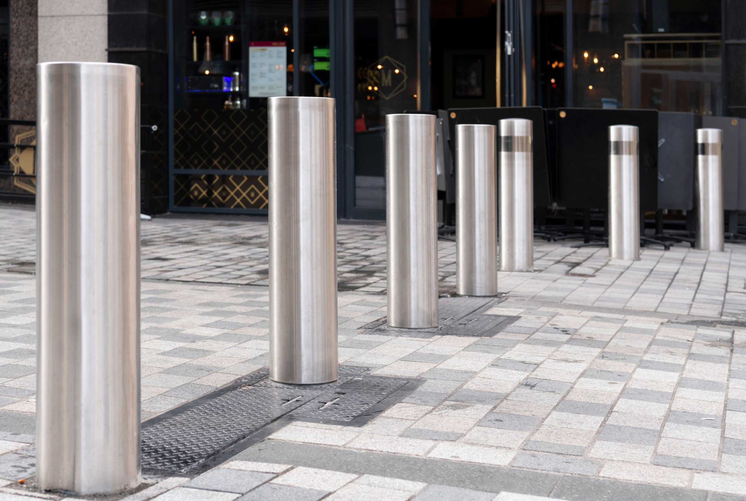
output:
[[[574,106],[720,115],[720,1],[574,1]]]

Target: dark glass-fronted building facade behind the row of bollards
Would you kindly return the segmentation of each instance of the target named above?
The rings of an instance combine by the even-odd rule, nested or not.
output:
[[[338,215],[383,219],[387,114],[746,117],[743,19],[746,0],[7,0],[0,113],[34,119],[37,62],[137,64],[157,127],[142,129],[142,211],[266,214],[267,97],[330,96]],[[7,176],[0,192],[33,197]]]

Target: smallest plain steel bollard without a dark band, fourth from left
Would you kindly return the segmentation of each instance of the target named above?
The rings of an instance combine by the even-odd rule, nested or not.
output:
[[[495,125],[456,126],[456,293],[498,293],[498,157]]]

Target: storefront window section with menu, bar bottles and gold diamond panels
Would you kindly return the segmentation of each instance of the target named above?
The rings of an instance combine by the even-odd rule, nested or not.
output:
[[[173,15],[172,210],[266,214],[267,99],[330,95],[329,0],[175,1]]]

